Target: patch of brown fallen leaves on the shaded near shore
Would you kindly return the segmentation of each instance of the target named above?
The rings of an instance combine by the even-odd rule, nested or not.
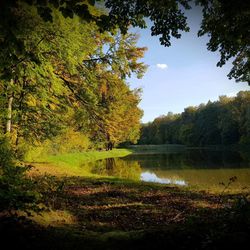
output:
[[[164,185],[64,180],[53,209],[66,210],[77,218],[78,227],[96,232],[154,230],[185,223],[190,216],[212,218],[223,209],[218,196]]]

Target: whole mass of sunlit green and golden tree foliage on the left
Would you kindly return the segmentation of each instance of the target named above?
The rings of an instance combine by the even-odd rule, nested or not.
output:
[[[16,144],[19,138],[39,142],[56,136],[65,126],[92,135],[99,130],[105,135],[102,140],[109,137],[113,143],[135,141],[140,97],[129,90],[126,78],[133,73],[141,77],[146,69],[138,62],[145,48],[136,47],[137,37],[116,30],[100,33],[95,23],[77,16],[65,19],[56,9],[52,23],[32,6],[23,4],[18,10],[16,20],[26,21],[17,22],[11,32],[25,46],[10,62],[7,55],[15,54],[15,47],[9,45],[0,53],[2,65],[12,69],[1,71],[1,122]]]

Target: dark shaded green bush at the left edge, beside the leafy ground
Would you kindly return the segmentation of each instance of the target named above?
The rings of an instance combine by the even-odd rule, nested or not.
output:
[[[13,153],[6,138],[0,138],[0,211],[15,213],[40,211],[40,195],[35,191],[35,183],[26,175],[29,167],[16,166]]]

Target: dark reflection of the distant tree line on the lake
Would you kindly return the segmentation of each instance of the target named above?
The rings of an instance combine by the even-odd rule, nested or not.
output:
[[[129,155],[124,160],[136,161],[142,168],[246,168],[250,167],[249,152],[231,150],[187,150],[178,153]]]

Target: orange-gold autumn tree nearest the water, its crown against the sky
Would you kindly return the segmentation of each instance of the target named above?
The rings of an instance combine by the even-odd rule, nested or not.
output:
[[[88,86],[97,98],[92,106],[95,119],[90,126],[91,133],[106,142],[107,149],[124,141],[136,142],[139,137],[140,90],[130,90],[126,78],[131,74],[140,78],[146,70],[138,62],[145,48],[136,47],[137,36],[116,32],[115,37],[106,37],[99,44],[95,57],[85,60],[82,67],[83,74],[88,76]]]

